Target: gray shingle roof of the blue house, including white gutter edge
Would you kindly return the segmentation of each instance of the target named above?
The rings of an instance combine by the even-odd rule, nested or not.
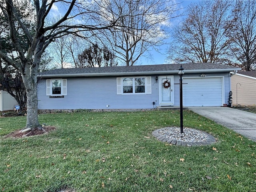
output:
[[[182,64],[185,73],[195,72],[230,72],[241,70],[240,68],[214,64],[214,63],[191,63]],[[42,77],[68,77],[68,76],[120,76],[139,74],[177,74],[180,64],[158,64],[139,66],[116,66],[94,68],[62,68],[42,72]]]

